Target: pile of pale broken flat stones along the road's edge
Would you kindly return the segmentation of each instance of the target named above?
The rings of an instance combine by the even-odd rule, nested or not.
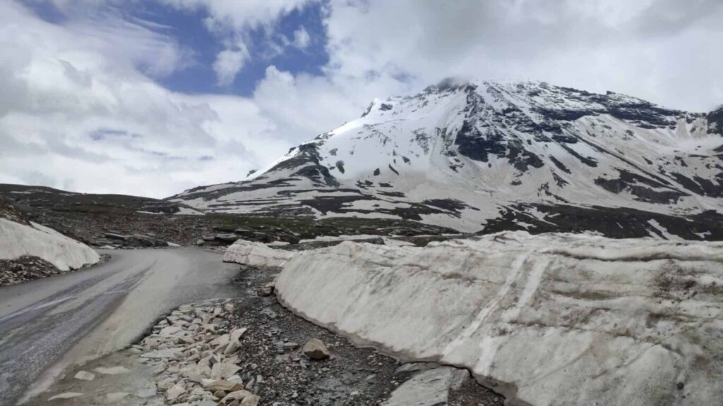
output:
[[[215,300],[179,306],[153,327],[140,345],[139,362],[157,371],[155,387],[138,397],[162,397],[170,405],[257,405],[239,373],[236,351],[246,327],[230,329],[235,307]],[[149,399],[150,400],[150,399]]]

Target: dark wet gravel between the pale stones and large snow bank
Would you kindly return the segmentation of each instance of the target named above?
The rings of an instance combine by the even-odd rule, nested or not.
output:
[[[414,372],[397,372],[402,363],[372,348],[359,348],[326,329],[317,327],[281,306],[274,295],[257,294],[260,285],[273,280],[275,272],[244,268],[236,280],[247,295],[236,304],[232,325],[253,327],[239,358],[257,365],[246,371],[244,381],[254,373],[268,376],[257,385],[263,405],[377,405]],[[331,357],[313,361],[300,349],[284,349],[284,343],[304,345],[310,338],[325,342]],[[450,392],[449,405],[502,405],[504,397],[479,386],[473,380]]]

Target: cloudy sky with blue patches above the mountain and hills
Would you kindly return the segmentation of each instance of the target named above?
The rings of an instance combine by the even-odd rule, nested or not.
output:
[[[449,76],[723,103],[719,0],[0,0],[0,183],[243,179]]]

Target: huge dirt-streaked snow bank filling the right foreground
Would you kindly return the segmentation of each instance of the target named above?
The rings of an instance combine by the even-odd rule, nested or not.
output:
[[[512,405],[723,399],[723,243],[524,232],[290,259],[278,298],[408,360],[463,366]]]

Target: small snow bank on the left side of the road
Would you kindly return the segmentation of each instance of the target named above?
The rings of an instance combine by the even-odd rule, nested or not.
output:
[[[30,224],[0,218],[0,259],[39,256],[63,271],[100,260],[98,253],[89,246],[43,225]]]

